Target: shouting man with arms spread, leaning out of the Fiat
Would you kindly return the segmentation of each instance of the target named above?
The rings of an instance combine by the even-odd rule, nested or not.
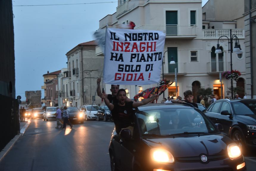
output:
[[[105,93],[101,94],[101,98],[104,98],[107,107],[111,110],[117,134],[119,134],[122,129],[129,129],[131,131],[131,134],[133,134],[134,121],[132,115],[132,108],[142,106],[153,100],[156,100],[159,98],[159,95],[154,95],[151,98],[147,98],[143,101],[138,102],[126,101],[127,97],[125,90],[119,89],[117,92],[118,103],[110,103]]]

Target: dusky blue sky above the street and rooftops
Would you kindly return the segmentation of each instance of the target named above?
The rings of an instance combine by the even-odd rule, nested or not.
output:
[[[206,2],[202,0],[202,6]],[[99,20],[116,7],[117,0],[13,0],[16,96],[25,101],[25,91],[42,90],[43,74],[67,68],[65,54],[93,40]]]

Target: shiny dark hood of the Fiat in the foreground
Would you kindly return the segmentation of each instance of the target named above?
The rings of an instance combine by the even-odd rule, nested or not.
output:
[[[143,139],[152,148],[165,148],[174,157],[192,157],[200,154],[226,154],[227,145],[233,141],[223,134],[193,137],[171,137],[158,139]]]

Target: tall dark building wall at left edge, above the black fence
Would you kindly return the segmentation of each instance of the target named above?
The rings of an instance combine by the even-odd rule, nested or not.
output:
[[[0,1],[0,94],[15,97],[12,1]]]

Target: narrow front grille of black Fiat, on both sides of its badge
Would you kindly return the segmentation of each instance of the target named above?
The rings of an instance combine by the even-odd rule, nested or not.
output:
[[[227,156],[222,154],[222,155],[211,155],[207,156],[207,161],[215,161],[215,160],[221,160],[225,159]],[[194,157],[177,157],[177,161],[179,162],[200,162],[201,158],[200,156],[194,156]]]

